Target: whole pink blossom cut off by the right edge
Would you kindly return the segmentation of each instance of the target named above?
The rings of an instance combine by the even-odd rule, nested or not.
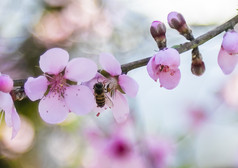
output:
[[[238,62],[238,33],[230,30],[223,36],[218,64],[224,74],[230,74]]]

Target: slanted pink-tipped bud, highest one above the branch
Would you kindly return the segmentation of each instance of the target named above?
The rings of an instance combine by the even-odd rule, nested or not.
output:
[[[187,40],[194,39],[191,34],[192,31],[189,29],[188,25],[186,24],[186,21],[183,15],[181,15],[178,12],[170,12],[167,17],[167,20],[168,20],[169,26],[179,31],[179,33],[185,36]]]

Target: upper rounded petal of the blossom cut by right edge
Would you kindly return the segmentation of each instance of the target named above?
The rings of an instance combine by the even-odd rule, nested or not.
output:
[[[226,32],[223,37],[222,47],[228,53],[238,54],[238,33],[234,30]]]

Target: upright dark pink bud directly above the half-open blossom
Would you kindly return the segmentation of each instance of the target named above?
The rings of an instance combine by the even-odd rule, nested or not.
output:
[[[166,47],[166,27],[164,23],[160,21],[154,21],[150,27],[150,33],[152,37],[155,39],[159,49],[163,49]]]

